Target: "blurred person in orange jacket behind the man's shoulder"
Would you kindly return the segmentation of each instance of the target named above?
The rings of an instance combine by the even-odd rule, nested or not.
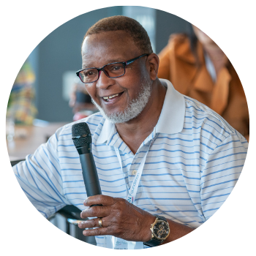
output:
[[[248,103],[236,69],[208,34],[188,27],[188,34],[171,34],[158,54],[158,77],[217,112],[249,142]]]

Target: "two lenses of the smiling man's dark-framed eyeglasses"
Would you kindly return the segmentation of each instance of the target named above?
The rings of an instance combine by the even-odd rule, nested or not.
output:
[[[109,78],[124,75],[124,65],[122,63],[108,64],[103,69]],[[83,83],[94,82],[98,79],[98,69],[84,69],[79,73],[79,76]]]

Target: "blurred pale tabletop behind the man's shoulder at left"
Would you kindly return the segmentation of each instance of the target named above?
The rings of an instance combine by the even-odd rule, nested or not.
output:
[[[67,123],[15,126],[15,138],[12,141],[6,139],[7,153],[10,161],[25,159],[26,155],[33,154],[38,146],[45,143],[64,124]]]

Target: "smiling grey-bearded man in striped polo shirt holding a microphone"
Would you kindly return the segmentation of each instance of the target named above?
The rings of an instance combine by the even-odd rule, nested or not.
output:
[[[74,123],[13,168],[20,187],[44,217],[68,204],[83,210],[89,220],[79,227],[94,227],[83,234],[96,236],[98,246],[143,249],[186,236],[227,200],[248,143],[217,113],[157,78],[158,56],[137,21],[99,20],[81,53],[77,74],[100,110],[81,121],[91,130],[103,195],[86,196]]]

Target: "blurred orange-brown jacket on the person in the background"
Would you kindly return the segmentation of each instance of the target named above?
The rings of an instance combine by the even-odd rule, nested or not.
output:
[[[197,99],[217,112],[249,142],[249,109],[241,80],[228,60],[214,84],[206,69],[203,46],[198,41],[197,55],[202,65],[197,68],[195,56],[185,34],[172,34],[159,53],[158,78],[173,83],[181,94]]]

